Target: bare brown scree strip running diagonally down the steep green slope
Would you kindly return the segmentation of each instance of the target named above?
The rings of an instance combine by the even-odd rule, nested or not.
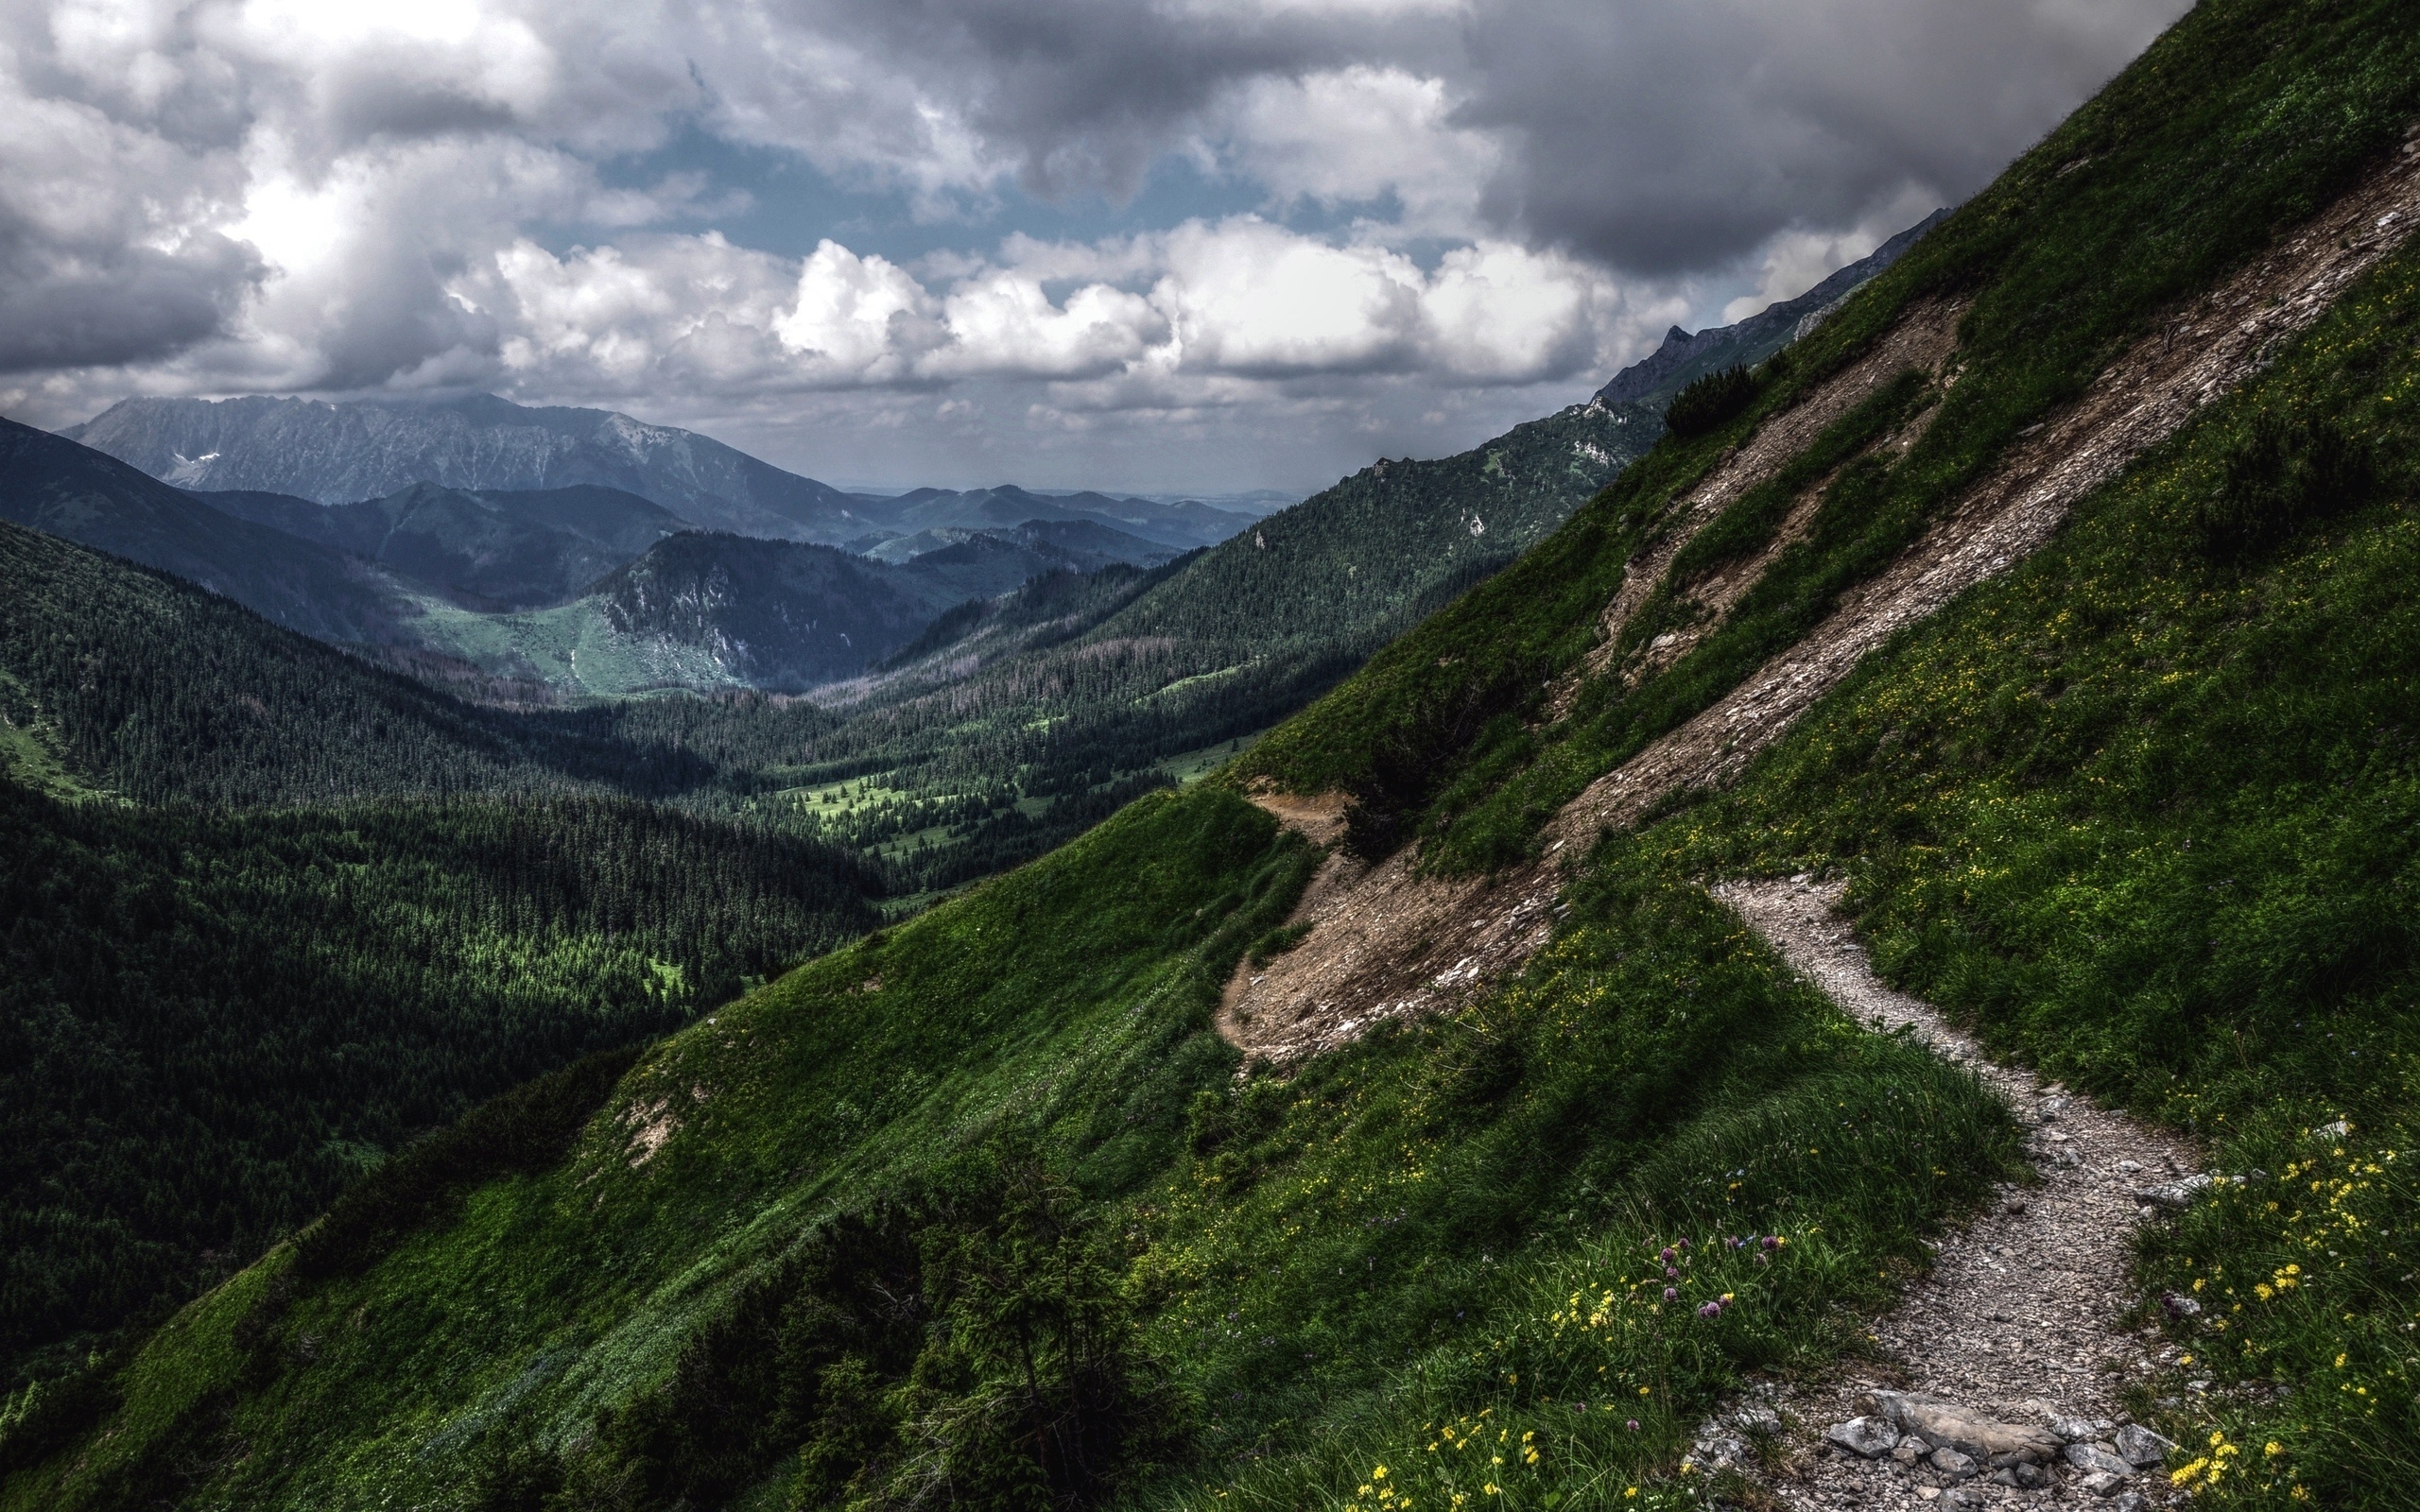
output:
[[[1263,973],[1237,970],[1220,1033],[1246,1055],[1290,1060],[1341,1045],[1382,1018],[1454,1006],[1488,980],[1517,970],[1554,934],[1566,856],[1585,852],[1607,827],[1636,823],[1658,798],[1738,777],[1868,651],[2030,556],[2084,496],[2173,435],[2205,404],[2253,377],[2284,341],[2318,322],[2345,288],[2401,247],[2413,225],[2420,225],[2420,138],[2265,259],[2137,341],[2076,404],[2018,438],[1924,539],[1871,583],[1842,595],[1839,607],[1803,641],[1573,798],[1546,825],[1539,861],[1491,878],[1423,878],[1406,852],[1355,878],[1331,878],[1333,885],[1295,912],[1297,922],[1312,924],[1302,946]],[[1955,319],[1943,307],[1917,307],[1902,327],[1938,331],[1953,329]],[[1895,341],[1902,341],[1897,331],[1878,346]],[[1929,341],[1909,334],[1897,351],[1931,351]],[[1890,373],[1905,368],[1900,360]],[[1859,377],[1880,382],[1888,373],[1849,368],[1834,382],[1854,385]],[[1808,406],[1844,414],[1866,389],[1834,394],[1825,387]],[[1774,426],[1803,433],[1798,445],[1820,431],[1791,416]],[[1791,452],[1779,443],[1750,443],[1738,460],[1752,455],[1769,477]],[[1733,481],[1723,486],[1745,491],[1757,481],[1750,472],[1745,462],[1725,469]],[[1701,523],[1713,513],[1704,513]],[[1677,544],[1670,549],[1677,552]],[[1670,564],[1670,552],[1660,561]],[[1641,571],[1631,571],[1607,605],[1617,627],[1646,602],[1663,571],[1653,561],[1634,569]]]

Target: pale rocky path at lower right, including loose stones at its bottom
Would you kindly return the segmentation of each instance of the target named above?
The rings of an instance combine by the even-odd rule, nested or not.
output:
[[[1844,1379],[1750,1403],[1699,1430],[1709,1464],[1742,1461],[1745,1430],[1779,1415],[1788,1461],[1764,1471],[1788,1507],[1992,1507],[2161,1500],[2166,1439],[2127,1422],[2118,1393],[2171,1355],[2130,1333],[2132,1231],[2207,1178],[2178,1137],[1994,1064],[1929,1004],[1883,985],[1834,912],[1839,885],[1723,883],[1716,898],[1844,1014],[1970,1067],[2016,1108],[2042,1173],[2009,1188],[1873,1331],[1895,1381]]]

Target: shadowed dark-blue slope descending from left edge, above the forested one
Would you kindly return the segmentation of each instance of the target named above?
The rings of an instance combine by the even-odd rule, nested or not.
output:
[[[0,419],[0,520],[15,520],[223,593],[324,641],[404,634],[411,605],[368,564],[223,515],[58,435]]]

